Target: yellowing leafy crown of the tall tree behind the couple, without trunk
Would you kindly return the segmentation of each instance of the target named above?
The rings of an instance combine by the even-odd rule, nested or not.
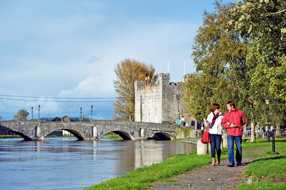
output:
[[[203,25],[194,38],[192,58],[196,73],[186,81],[185,109],[197,120],[208,115],[212,103],[235,100],[240,105],[239,91],[245,87],[246,45],[227,31],[227,10],[232,4],[214,3],[215,11],[203,14]],[[197,117],[200,118],[197,118]]]

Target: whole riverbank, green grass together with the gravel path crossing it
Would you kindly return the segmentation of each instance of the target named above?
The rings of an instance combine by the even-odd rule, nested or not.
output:
[[[286,162],[286,141],[276,140],[276,153],[272,153],[272,147],[265,141],[265,139],[257,139],[255,143],[250,143],[249,140],[243,142],[243,166],[232,168],[226,166],[228,164],[227,148],[222,150],[221,164],[215,167],[210,166],[210,154],[196,155],[196,151],[194,151],[191,154],[170,156],[159,164],[138,168],[126,175],[104,181],[87,189],[239,189],[244,185],[250,186],[247,189],[254,187],[256,189],[256,186],[259,187],[262,183],[263,188],[269,186],[273,189],[277,186],[278,189],[285,189],[285,182],[274,182],[275,185],[273,185],[273,181],[270,180],[279,178],[283,181],[286,178],[285,164],[275,167],[275,163]],[[260,151],[257,151],[258,147],[262,147],[259,149]],[[246,168],[247,171],[245,171]],[[259,168],[259,172],[256,171],[257,168]],[[242,174],[242,171],[249,174]],[[275,177],[273,177],[273,173],[275,173]],[[234,175],[231,176],[231,174]],[[251,178],[254,178],[255,183],[247,184]],[[222,179],[225,181],[220,183]],[[264,182],[265,179],[269,179],[266,180],[267,184]],[[238,185],[239,187],[237,187]]]

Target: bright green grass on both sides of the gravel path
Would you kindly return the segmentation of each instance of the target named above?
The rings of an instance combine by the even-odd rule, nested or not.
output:
[[[272,147],[266,148],[265,152],[255,152],[255,153],[247,153],[247,149],[249,148],[255,148],[255,147],[262,147],[262,146],[269,146],[270,143],[265,142],[266,139],[257,139],[257,142],[250,143],[249,140],[243,142],[243,151],[246,152],[246,154],[243,153],[243,156],[249,156],[248,154],[251,154],[251,156],[263,156],[266,157],[265,159],[268,162],[277,162],[281,159],[283,163],[285,163],[285,140],[279,140],[277,139],[275,147],[277,150],[277,153],[272,153]],[[279,154],[278,154],[279,153]],[[227,159],[227,148],[224,148],[222,150],[221,159]],[[266,156],[265,156],[266,155]],[[262,158],[262,157],[261,157]],[[262,164],[264,161],[258,159],[254,163],[249,164],[251,166],[252,164]],[[282,163],[279,161],[279,163]],[[86,188],[86,190],[94,190],[94,189],[148,189],[150,187],[150,183],[153,181],[172,181],[170,177],[174,177],[174,175],[177,175],[179,173],[185,173],[186,171],[201,167],[207,164],[210,164],[210,155],[197,155],[196,151],[190,153],[190,154],[178,154],[174,156],[170,156],[166,161],[153,164],[151,166],[146,166],[142,168],[138,168],[134,171],[131,171],[125,175],[121,175],[119,177],[116,177],[114,179],[109,179],[107,181],[103,181],[102,183],[96,184],[92,187]],[[269,164],[269,163],[268,163]],[[247,167],[247,172],[249,174],[254,175],[254,171],[257,169],[254,167]],[[279,166],[279,167],[278,167]],[[271,170],[272,174],[276,173],[276,176],[285,176],[285,169],[286,165],[280,167],[280,164],[273,168],[273,171]],[[264,165],[265,167],[265,165]],[[269,167],[265,167],[265,169],[269,169]],[[269,173],[271,173],[269,172]],[[284,175],[283,175],[284,172]],[[246,174],[246,175],[249,175]],[[271,174],[271,175],[272,175]],[[277,175],[279,174],[279,175]],[[256,174],[255,174],[256,175]],[[257,176],[261,174],[257,173]],[[264,175],[264,173],[263,173]],[[264,177],[271,176],[270,174],[265,174]],[[264,183],[264,182],[263,182]],[[280,189],[283,188],[285,185],[284,183],[281,183],[282,185],[278,185]],[[251,184],[252,185],[252,184]],[[264,184],[263,184],[264,185]],[[240,187],[240,186],[239,186]],[[249,187],[248,189],[256,189]],[[240,190],[240,189],[239,189]]]

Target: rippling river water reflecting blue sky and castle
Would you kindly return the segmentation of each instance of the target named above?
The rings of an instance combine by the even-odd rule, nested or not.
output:
[[[195,149],[196,144],[170,140],[0,139],[0,187],[84,189]]]

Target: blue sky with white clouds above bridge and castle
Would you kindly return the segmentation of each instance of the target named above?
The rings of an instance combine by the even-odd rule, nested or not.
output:
[[[2,120],[22,109],[27,119],[80,119],[80,107],[82,117],[111,120],[114,66],[126,58],[183,82],[196,69],[192,44],[212,2],[0,0]]]

